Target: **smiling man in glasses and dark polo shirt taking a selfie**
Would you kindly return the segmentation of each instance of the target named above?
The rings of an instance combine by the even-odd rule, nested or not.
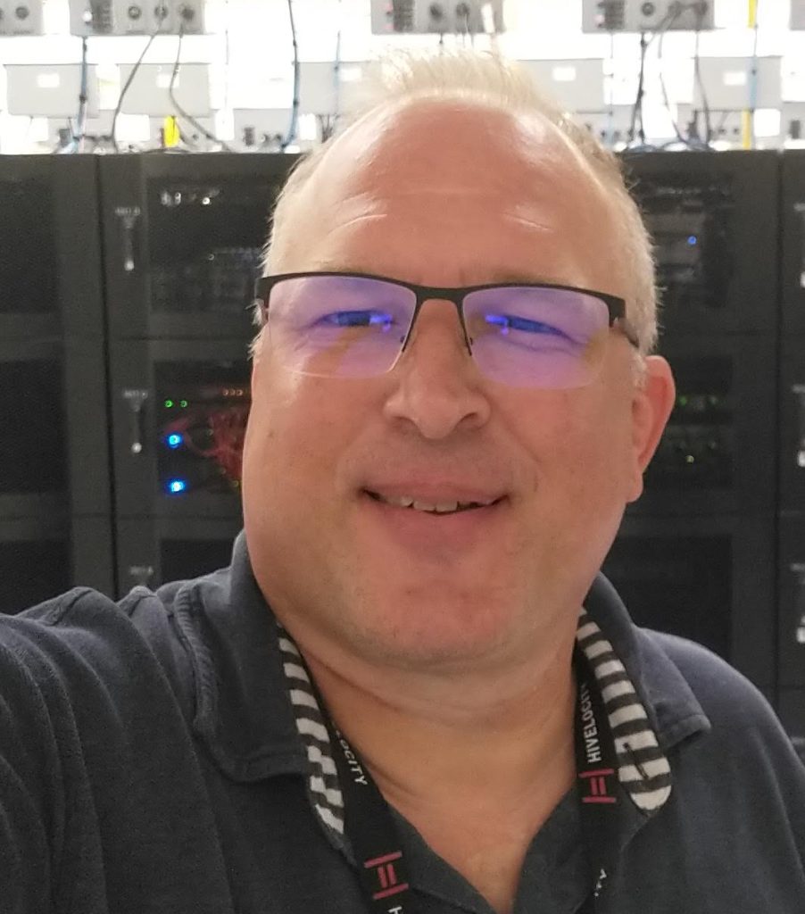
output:
[[[617,168],[391,81],[277,208],[231,569],[5,622],[4,910],[801,912],[776,718],[597,577],[673,406]]]

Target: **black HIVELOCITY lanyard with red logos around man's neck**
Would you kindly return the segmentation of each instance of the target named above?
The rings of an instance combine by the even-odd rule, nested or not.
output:
[[[615,745],[587,657],[576,649],[575,746],[581,827],[588,850],[591,890],[583,914],[595,914],[596,899],[609,877],[621,798]],[[320,698],[320,707],[324,705]],[[344,831],[358,866],[366,909],[371,914],[416,914],[397,825],[375,781],[324,714],[344,795]]]

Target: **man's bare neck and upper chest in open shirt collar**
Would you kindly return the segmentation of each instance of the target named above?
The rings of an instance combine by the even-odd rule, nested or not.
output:
[[[528,845],[576,775],[572,638],[495,676],[444,678],[341,664],[347,677],[300,647],[387,801],[510,911]]]

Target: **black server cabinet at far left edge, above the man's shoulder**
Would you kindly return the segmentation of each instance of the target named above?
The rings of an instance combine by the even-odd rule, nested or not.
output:
[[[0,611],[114,592],[95,161],[0,157]]]

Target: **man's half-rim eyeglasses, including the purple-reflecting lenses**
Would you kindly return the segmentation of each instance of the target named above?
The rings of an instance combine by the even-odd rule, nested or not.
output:
[[[507,282],[442,289],[345,272],[282,273],[256,285],[270,345],[291,371],[313,377],[390,371],[431,299],[455,305],[477,366],[513,387],[588,385],[616,324],[638,345],[622,298],[573,286]]]

